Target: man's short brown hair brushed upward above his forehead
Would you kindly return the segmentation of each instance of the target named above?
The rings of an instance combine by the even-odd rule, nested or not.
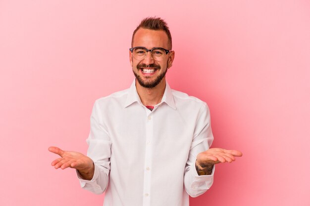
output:
[[[135,29],[134,33],[132,34],[131,47],[133,46],[134,36],[140,28],[150,29],[150,30],[155,30],[155,31],[158,31],[158,30],[164,31],[168,36],[168,47],[169,47],[168,49],[169,50],[172,49],[172,38],[171,38],[169,27],[167,23],[159,17],[147,17],[140,22],[139,26]]]

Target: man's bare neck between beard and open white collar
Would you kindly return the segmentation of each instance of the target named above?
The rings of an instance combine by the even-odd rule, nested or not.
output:
[[[166,88],[166,80],[163,78],[161,82],[159,82],[153,88],[143,87],[136,80],[136,87],[142,104],[145,106],[154,106],[161,102],[163,93]]]

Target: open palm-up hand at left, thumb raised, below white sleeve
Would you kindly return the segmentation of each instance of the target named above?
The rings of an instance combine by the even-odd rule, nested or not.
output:
[[[63,151],[58,147],[50,147],[49,151],[61,157],[52,162],[55,169],[71,167],[77,169],[83,179],[91,180],[93,178],[95,166],[89,157],[79,152]]]

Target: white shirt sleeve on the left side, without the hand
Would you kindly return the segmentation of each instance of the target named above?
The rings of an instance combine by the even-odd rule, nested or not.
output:
[[[103,124],[102,115],[97,100],[91,115],[90,134],[86,140],[89,145],[87,156],[93,160],[95,165],[94,176],[91,180],[84,180],[77,171],[81,187],[95,194],[101,194],[105,191],[110,171],[111,141]]]

